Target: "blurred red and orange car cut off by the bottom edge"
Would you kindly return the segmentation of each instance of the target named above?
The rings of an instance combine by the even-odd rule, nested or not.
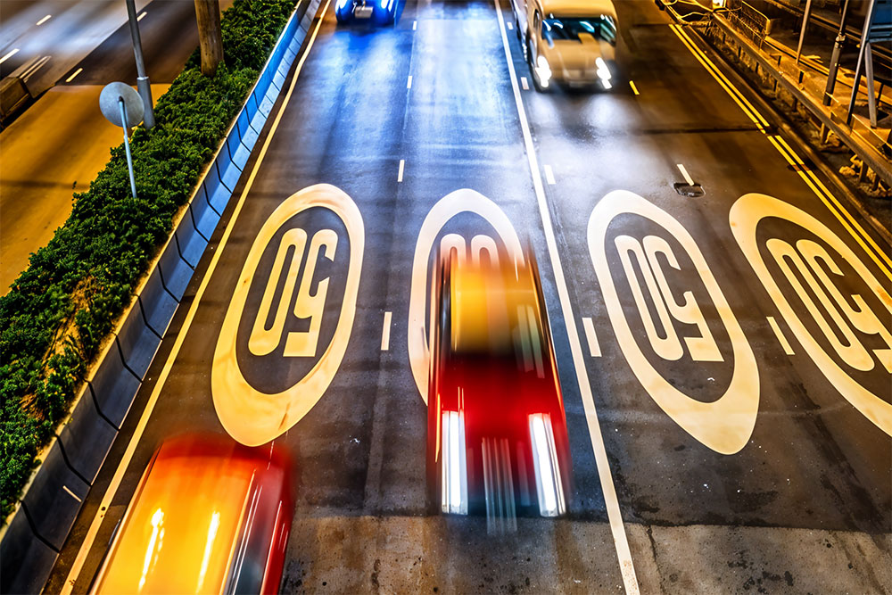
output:
[[[164,442],[145,469],[95,593],[275,593],[293,504],[288,458],[228,436]]]

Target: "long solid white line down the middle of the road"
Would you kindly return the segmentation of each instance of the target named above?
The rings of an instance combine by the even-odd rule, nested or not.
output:
[[[524,101],[520,96],[520,88],[517,87],[514,61],[511,58],[511,49],[508,46],[508,34],[505,32],[502,10],[499,0],[494,0],[497,16],[499,17],[499,30],[502,37],[502,45],[505,48],[505,59],[508,61],[508,74],[511,79],[511,88],[514,91],[514,101],[517,106],[517,114],[520,117],[520,128],[524,133],[524,146],[526,158],[529,161],[530,173],[533,176],[533,189],[536,193],[536,202],[539,203],[539,214],[542,219],[542,230],[545,233],[545,243],[549,249],[551,268],[554,269],[555,286],[558,289],[561,312],[564,315],[567,340],[570,343],[570,352],[573,354],[573,364],[576,372],[576,381],[579,383],[579,392],[582,396],[582,406],[585,409],[585,421],[589,427],[591,436],[591,450],[595,454],[595,462],[598,467],[598,476],[601,483],[601,492],[607,506],[607,519],[610,522],[610,532],[613,534],[616,558],[619,560],[620,573],[623,576],[623,584],[626,593],[638,595],[638,579],[635,577],[635,566],[632,564],[632,552],[629,550],[629,541],[625,534],[623,516],[619,509],[619,500],[616,498],[616,488],[613,483],[613,475],[610,472],[610,462],[607,460],[607,450],[604,448],[604,439],[601,437],[601,427],[598,421],[598,411],[595,409],[595,401],[591,396],[591,384],[585,371],[585,360],[582,358],[582,344],[579,341],[579,333],[576,332],[574,323],[573,306],[570,303],[570,293],[566,288],[564,269],[558,255],[558,242],[555,239],[554,229],[551,227],[551,215],[549,206],[545,200],[545,188],[542,186],[542,177],[539,169],[539,160],[536,157],[533,146],[533,135],[530,133],[530,123],[526,120]]]

